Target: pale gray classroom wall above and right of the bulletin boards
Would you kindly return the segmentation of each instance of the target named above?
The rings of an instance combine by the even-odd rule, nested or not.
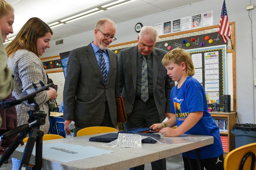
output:
[[[226,7],[229,22],[235,22],[235,45],[236,45],[236,103],[240,123],[255,123],[256,98],[253,79],[256,78],[255,60],[252,60],[251,52],[251,21],[246,11],[246,5],[254,4],[256,0],[226,0]],[[138,33],[135,32],[135,24],[140,22],[143,26],[154,26],[155,23],[169,21],[171,19],[182,18],[198,13],[213,11],[213,25],[219,24],[223,0],[204,0],[191,6],[178,8],[132,19],[130,21],[117,24],[113,44],[137,40]],[[253,39],[256,45],[256,9],[251,11],[253,23]],[[95,20],[95,23],[97,19]],[[55,40],[50,42],[50,49],[42,57],[57,56],[61,52],[70,51],[75,48],[88,45],[94,40],[94,31],[73,35],[64,38],[64,44],[55,46]],[[256,51],[256,49],[254,50]],[[256,52],[255,58],[256,58]],[[237,121],[238,123],[238,121]]]

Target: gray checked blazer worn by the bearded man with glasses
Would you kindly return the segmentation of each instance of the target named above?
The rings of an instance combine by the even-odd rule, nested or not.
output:
[[[113,125],[117,123],[115,96],[119,96],[118,57],[113,51],[107,52],[110,70],[106,86],[91,43],[69,54],[63,91],[63,118],[74,119],[79,128],[101,125],[106,98],[111,121]]]

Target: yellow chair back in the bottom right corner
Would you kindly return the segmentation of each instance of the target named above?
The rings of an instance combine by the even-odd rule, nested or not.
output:
[[[224,170],[255,170],[256,143],[238,147],[229,152],[224,160]]]

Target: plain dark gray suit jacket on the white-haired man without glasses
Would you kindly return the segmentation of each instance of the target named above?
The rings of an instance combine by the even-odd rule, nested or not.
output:
[[[120,94],[124,100],[127,117],[133,110],[137,83],[137,49],[138,46],[124,49],[119,55]],[[170,94],[174,81],[167,75],[161,61],[167,51],[154,48],[153,54],[153,94],[162,122],[165,112],[171,112]]]

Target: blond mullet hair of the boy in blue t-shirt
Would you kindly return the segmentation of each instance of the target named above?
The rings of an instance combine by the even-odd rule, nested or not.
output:
[[[195,74],[192,57],[190,53],[188,53],[184,49],[176,48],[168,52],[162,59],[162,65],[165,67],[168,64],[170,64],[170,62],[173,62],[174,64],[178,64],[179,66],[182,62],[185,62],[187,76],[193,76]]]

